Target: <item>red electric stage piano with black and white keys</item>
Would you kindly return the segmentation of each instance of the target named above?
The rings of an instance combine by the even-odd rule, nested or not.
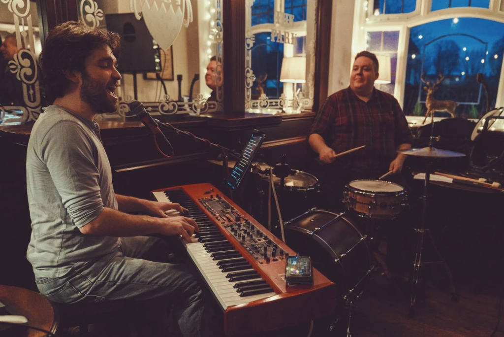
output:
[[[316,269],[313,286],[285,284],[285,258],[295,254],[211,184],[152,192],[179,203],[200,232],[187,253],[224,311],[227,335],[268,331],[329,315],[336,287]]]

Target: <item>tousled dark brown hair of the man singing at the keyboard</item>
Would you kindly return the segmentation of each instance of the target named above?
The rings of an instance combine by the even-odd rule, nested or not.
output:
[[[117,33],[76,21],[62,23],[49,32],[39,58],[47,103],[52,104],[57,97],[65,95],[69,86],[65,71],[85,72],[86,58],[103,45],[108,45],[119,58]]]

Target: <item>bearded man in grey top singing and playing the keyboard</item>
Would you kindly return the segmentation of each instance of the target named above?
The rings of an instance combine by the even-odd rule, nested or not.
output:
[[[27,257],[40,293],[53,302],[161,299],[160,312],[173,305],[182,335],[208,335],[208,313],[192,271],[163,262],[166,243],[145,236],[190,241],[198,224],[165,214],[183,213],[179,204],[117,195],[112,187],[94,117],[117,108],[119,40],[115,33],[77,22],[54,28],[46,40],[41,65],[52,105],[33,126],[28,143]]]

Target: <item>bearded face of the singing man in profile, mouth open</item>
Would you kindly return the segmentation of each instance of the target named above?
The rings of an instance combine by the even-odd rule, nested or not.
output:
[[[97,114],[112,113],[117,109],[115,89],[121,75],[117,72],[117,60],[108,45],[91,51],[82,73],[81,98]]]

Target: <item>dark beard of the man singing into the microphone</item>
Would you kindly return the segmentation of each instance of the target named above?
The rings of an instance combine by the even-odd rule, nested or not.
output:
[[[85,72],[82,74],[81,99],[88,103],[96,114],[113,113],[117,110],[117,101],[110,102],[107,88],[93,81]]]

